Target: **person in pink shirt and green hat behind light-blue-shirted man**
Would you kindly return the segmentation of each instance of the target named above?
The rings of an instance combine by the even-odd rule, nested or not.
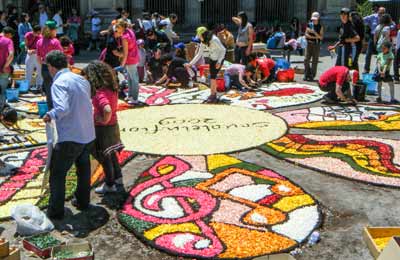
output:
[[[57,39],[57,25],[54,21],[47,21],[43,28],[42,38],[36,44],[37,58],[42,66],[43,91],[46,93],[47,106],[49,110],[53,108],[53,99],[51,98],[50,87],[53,78],[50,75],[46,65],[46,55],[54,50],[63,52],[60,41]]]

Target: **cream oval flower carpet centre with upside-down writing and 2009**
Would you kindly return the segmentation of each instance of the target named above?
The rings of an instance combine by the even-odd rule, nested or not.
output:
[[[246,150],[284,135],[286,123],[262,111],[206,104],[154,106],[118,113],[127,150],[207,155]]]

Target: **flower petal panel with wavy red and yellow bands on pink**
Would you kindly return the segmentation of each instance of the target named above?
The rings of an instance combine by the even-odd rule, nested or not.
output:
[[[376,185],[400,187],[400,141],[289,134],[261,149],[289,162]]]

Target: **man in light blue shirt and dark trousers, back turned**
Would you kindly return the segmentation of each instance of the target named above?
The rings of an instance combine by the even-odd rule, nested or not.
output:
[[[55,121],[58,140],[50,163],[50,199],[47,215],[64,217],[65,181],[75,164],[78,184],[73,205],[84,210],[90,204],[90,149],[95,139],[90,83],[68,69],[67,56],[51,51],[45,62],[54,81],[51,85],[53,108],[43,117]]]

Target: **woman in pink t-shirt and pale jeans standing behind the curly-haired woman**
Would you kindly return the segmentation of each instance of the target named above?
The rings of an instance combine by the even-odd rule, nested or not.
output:
[[[125,67],[128,72],[128,104],[138,105],[139,101],[139,73],[137,65],[139,63],[139,48],[136,44],[135,33],[128,27],[128,23],[119,19],[115,25],[115,29],[118,33],[122,34],[122,60],[121,66]]]

